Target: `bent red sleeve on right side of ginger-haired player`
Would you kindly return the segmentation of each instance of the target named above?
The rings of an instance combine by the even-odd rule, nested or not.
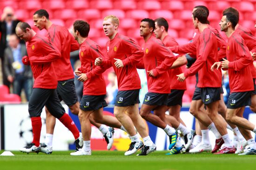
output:
[[[127,52],[130,53],[130,56],[126,56],[122,60],[123,67],[127,65],[134,65],[141,61],[141,58],[144,55],[144,52],[141,50],[141,47],[132,39],[126,38],[122,41],[122,45],[126,47]]]

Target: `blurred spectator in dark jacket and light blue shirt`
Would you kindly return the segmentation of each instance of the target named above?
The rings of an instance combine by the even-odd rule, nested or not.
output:
[[[27,56],[26,46],[20,44],[16,34],[9,35],[8,47],[4,51],[3,68],[8,82],[13,83],[13,93],[20,95],[25,90],[26,99],[29,101],[33,87],[33,76],[29,65],[22,63],[22,57]]]

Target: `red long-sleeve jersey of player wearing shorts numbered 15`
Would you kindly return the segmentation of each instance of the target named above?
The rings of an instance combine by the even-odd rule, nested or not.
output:
[[[100,68],[94,65],[94,61],[97,57],[105,58],[100,46],[90,38],[86,38],[86,40],[80,44],[79,50],[81,71],[88,76],[88,80],[84,82],[83,95],[106,94],[106,84],[102,75],[95,75],[93,73],[94,69]]]

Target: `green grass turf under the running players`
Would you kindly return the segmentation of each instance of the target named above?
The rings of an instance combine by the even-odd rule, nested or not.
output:
[[[2,153],[3,151],[0,151]],[[148,156],[124,156],[124,151],[93,151],[92,156],[70,156],[71,151],[21,153],[0,156],[0,170],[253,170],[256,156],[211,153],[167,156],[155,151]],[[138,152],[139,153],[139,152]]]

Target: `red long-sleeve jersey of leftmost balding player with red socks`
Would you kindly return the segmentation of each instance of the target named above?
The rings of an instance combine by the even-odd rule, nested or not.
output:
[[[34,75],[33,88],[57,88],[57,76],[52,62],[60,58],[59,50],[48,38],[37,34],[26,43],[26,47]]]

